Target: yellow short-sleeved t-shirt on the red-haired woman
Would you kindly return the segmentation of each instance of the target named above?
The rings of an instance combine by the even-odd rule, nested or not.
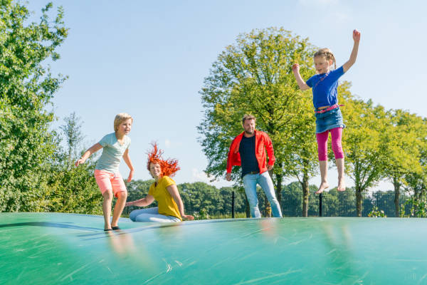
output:
[[[181,214],[179,214],[178,206],[176,205],[174,198],[167,191],[167,187],[170,185],[176,184],[169,176],[163,176],[157,182],[154,182],[148,190],[148,195],[152,195],[156,199],[157,204],[159,204],[159,214],[164,214],[165,216],[174,216],[178,219],[181,219]]]

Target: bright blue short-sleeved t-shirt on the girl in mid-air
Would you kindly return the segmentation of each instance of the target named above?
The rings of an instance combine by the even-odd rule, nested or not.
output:
[[[342,66],[328,73],[316,74],[307,80],[313,90],[315,108],[332,106],[338,103],[338,79],[344,74]]]

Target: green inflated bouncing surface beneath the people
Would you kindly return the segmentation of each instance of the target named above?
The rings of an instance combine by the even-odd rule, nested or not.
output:
[[[1,213],[0,284],[427,284],[427,219]]]

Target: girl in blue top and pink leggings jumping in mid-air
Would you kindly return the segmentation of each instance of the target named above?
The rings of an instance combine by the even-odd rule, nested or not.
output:
[[[322,193],[329,187],[327,182],[327,138],[331,133],[332,150],[337,162],[338,170],[338,191],[345,190],[344,182],[344,152],[342,151],[342,129],[345,125],[342,120],[341,110],[339,110],[337,99],[338,79],[349,70],[356,62],[357,51],[359,49],[360,32],[353,31],[354,46],[349,61],[337,68],[335,57],[329,48],[322,48],[315,53],[315,68],[317,74],[304,82],[300,75],[300,66],[295,63],[292,66],[295,79],[301,90],[312,88],[313,105],[316,116],[316,138],[317,152],[320,162],[320,176],[322,182],[316,194]],[[332,70],[332,63],[334,68]]]

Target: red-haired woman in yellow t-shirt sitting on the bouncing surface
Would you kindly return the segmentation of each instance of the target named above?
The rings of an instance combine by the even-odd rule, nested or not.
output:
[[[135,209],[130,212],[130,219],[134,222],[181,222],[182,219],[194,219],[189,214],[184,214],[184,204],[179,196],[178,188],[173,176],[179,170],[176,160],[162,160],[162,150],[153,145],[153,150],[148,153],[147,169],[154,178],[154,183],[149,187],[148,195],[137,201],[127,202],[126,206],[145,207],[157,201],[159,207]]]

